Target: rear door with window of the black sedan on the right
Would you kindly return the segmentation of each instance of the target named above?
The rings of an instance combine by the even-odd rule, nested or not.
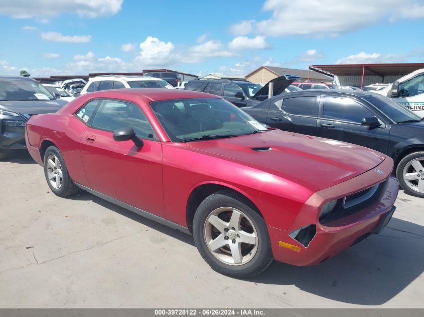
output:
[[[266,123],[280,130],[316,135],[318,99],[311,94],[272,100]]]

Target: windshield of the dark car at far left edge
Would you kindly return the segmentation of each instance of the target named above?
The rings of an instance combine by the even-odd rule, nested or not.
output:
[[[33,80],[0,80],[0,100],[28,101],[53,100],[53,95]]]

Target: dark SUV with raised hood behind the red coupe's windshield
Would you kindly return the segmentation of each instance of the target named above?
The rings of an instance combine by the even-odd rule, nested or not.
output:
[[[273,96],[279,95],[300,77],[283,75],[266,83],[265,86],[249,81],[229,79],[195,79],[186,84],[184,90],[202,91],[222,96],[237,107],[253,106],[268,98],[269,83],[274,84]],[[291,88],[296,89],[296,88]]]

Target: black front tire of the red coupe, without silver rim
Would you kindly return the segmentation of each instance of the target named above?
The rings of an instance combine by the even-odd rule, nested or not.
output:
[[[205,223],[209,215],[221,207],[230,207],[241,211],[256,229],[257,249],[254,255],[244,264],[234,266],[224,263],[213,254],[215,252],[209,250],[206,243]],[[199,205],[193,219],[193,237],[203,259],[213,270],[227,276],[236,278],[255,276],[262,272],[273,259],[265,220],[251,205],[250,201],[230,190],[214,193]]]

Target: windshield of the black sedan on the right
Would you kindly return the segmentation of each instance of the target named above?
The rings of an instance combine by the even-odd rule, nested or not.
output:
[[[395,103],[393,100],[385,96],[371,95],[363,97],[363,99],[371,103],[374,107],[376,107],[396,123],[419,121],[422,119],[418,114],[412,112],[404,106]]]

